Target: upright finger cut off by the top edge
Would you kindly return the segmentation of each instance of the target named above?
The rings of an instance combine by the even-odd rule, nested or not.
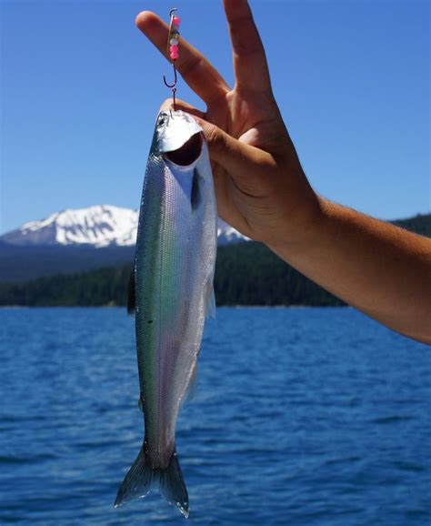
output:
[[[234,54],[236,86],[248,91],[271,89],[265,49],[246,0],[224,0]]]

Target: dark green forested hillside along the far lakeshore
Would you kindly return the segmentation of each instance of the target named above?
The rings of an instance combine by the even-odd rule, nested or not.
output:
[[[431,215],[394,223],[431,236]],[[25,283],[3,283],[0,305],[125,305],[131,267],[130,262]],[[215,288],[217,305],[343,305],[264,245],[252,241],[218,248]]]

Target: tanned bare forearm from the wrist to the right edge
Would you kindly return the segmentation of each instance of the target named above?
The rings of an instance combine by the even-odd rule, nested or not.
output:
[[[272,248],[387,327],[431,343],[431,240],[321,199],[304,241]]]

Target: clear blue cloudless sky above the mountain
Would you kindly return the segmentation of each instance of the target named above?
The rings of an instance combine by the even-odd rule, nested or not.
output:
[[[182,34],[232,82],[221,0],[0,2],[0,233],[70,207],[138,207],[171,68],[135,15],[178,7]],[[316,190],[375,217],[429,212],[429,3],[250,4]],[[183,81],[178,96],[204,107]]]

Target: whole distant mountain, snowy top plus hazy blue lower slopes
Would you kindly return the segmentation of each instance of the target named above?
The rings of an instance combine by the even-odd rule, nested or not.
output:
[[[96,205],[56,212],[0,237],[0,283],[115,267],[132,261],[138,211]],[[222,219],[218,244],[246,238]]]

